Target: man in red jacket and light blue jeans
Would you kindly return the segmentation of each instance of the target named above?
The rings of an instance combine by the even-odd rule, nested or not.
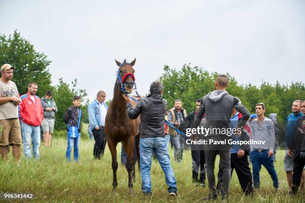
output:
[[[22,143],[25,158],[32,158],[31,138],[33,146],[33,157],[39,159],[40,124],[43,120],[43,108],[40,99],[36,96],[38,85],[28,84],[28,92],[21,96],[19,105],[19,119],[21,120]]]

